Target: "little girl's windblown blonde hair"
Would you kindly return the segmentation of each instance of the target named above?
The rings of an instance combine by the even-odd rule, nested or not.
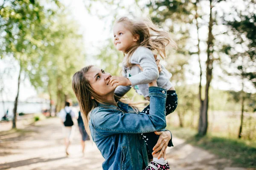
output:
[[[169,32],[160,30],[150,19],[131,20],[128,17],[119,18],[116,23],[124,24],[132,35],[139,35],[137,45],[130,47],[127,50],[125,60],[126,66],[131,66],[129,62],[131,55],[139,46],[145,46],[150,50],[157,50],[158,54],[164,59],[166,57],[166,46],[171,45],[176,47],[175,41],[170,37]]]

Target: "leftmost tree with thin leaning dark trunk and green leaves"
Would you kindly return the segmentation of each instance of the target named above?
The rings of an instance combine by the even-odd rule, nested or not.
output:
[[[57,0],[50,3],[58,4]],[[4,0],[0,6],[0,57],[14,56],[20,65],[17,84],[17,95],[13,110],[13,126],[16,128],[16,112],[20,90],[20,75],[29,64],[35,65],[35,46],[42,41],[38,29],[44,28],[41,20],[53,14],[50,9],[44,8],[38,1]]]

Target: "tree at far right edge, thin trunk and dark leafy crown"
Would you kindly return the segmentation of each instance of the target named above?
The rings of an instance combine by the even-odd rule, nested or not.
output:
[[[241,120],[238,138],[242,137],[244,102],[246,99],[245,83],[251,84],[251,88],[256,88],[256,1],[245,0],[244,9],[233,6],[233,10],[223,17],[223,23],[228,26],[225,34],[229,37],[230,43],[223,46],[223,52],[231,58],[229,66],[232,68],[226,72],[241,80]],[[234,3],[235,4],[235,3]],[[249,100],[252,100],[249,98]],[[253,100],[252,100],[253,101]],[[255,108],[256,110],[256,108]]]

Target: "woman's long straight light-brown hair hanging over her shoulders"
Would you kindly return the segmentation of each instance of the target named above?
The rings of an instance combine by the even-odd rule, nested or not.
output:
[[[105,104],[106,108],[110,108],[110,107],[107,107],[108,105],[116,105],[116,102],[107,101],[105,98],[102,98],[90,86],[90,82],[87,80],[85,75],[92,67],[93,65],[82,68],[80,71],[76,72],[72,78],[72,88],[76,95],[77,101],[79,103],[85,130],[89,135],[90,135],[90,128],[89,128],[90,111],[95,107],[97,107],[97,103]],[[138,111],[138,109],[135,108],[134,106],[137,106],[137,104],[144,103],[144,102],[133,103],[129,100],[125,100],[122,98],[121,99],[119,98],[119,101],[129,104],[134,108],[134,111]],[[122,112],[122,110],[119,110],[119,111]]]

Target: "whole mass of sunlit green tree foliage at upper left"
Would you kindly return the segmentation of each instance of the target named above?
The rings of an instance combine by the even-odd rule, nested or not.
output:
[[[5,0],[0,57],[14,56],[31,84],[61,104],[64,97],[74,98],[72,75],[84,65],[85,55],[79,26],[59,7],[58,0]]]

